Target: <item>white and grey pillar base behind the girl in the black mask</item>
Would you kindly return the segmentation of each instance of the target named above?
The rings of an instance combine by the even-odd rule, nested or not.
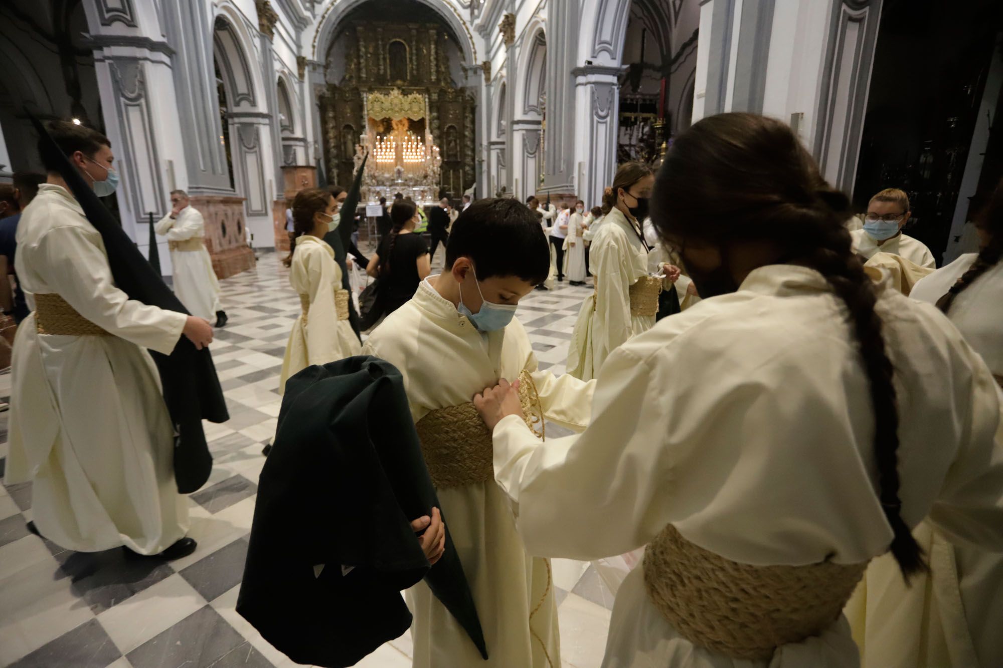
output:
[[[620,75],[625,68],[586,65],[575,76],[576,159],[585,165],[585,183],[578,185],[582,200],[596,206],[613,183],[617,169],[620,113]]]

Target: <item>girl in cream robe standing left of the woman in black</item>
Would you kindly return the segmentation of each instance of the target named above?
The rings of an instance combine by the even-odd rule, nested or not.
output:
[[[323,236],[334,221],[337,203],[327,191],[301,191],[293,201],[296,234],[292,253],[286,259],[289,282],[300,296],[302,312],[293,323],[282,360],[279,392],[286,380],[310,366],[358,355],[358,337],[348,322],[347,290],[342,289],[341,268],[334,249]]]

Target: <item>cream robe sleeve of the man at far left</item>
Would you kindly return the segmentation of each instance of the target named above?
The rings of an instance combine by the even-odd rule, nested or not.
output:
[[[115,287],[107,258],[82,230],[55,228],[38,249],[52,270],[46,281],[77,313],[114,336],[171,354],[188,316],[129,299]]]

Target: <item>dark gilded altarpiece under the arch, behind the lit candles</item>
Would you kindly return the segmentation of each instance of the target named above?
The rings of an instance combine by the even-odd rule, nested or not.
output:
[[[441,157],[438,184],[453,197],[473,186],[474,98],[450,76],[449,56],[442,45],[453,39],[434,23],[358,21],[334,48],[344,48],[344,72],[328,71],[321,95],[324,155],[328,180],[348,186],[365,135],[389,130],[388,118],[368,108],[367,98],[424,97],[423,117],[408,112],[407,132],[420,140],[428,134]],[[377,113],[377,116],[373,116]],[[372,159],[372,157],[370,157]]]

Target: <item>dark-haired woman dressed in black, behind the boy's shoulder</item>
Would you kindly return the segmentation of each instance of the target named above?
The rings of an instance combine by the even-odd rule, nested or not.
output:
[[[417,208],[402,202],[390,212],[393,228],[376,249],[366,273],[380,281],[382,312],[389,315],[403,306],[431,273],[428,246],[421,235],[412,234],[418,224]]]

